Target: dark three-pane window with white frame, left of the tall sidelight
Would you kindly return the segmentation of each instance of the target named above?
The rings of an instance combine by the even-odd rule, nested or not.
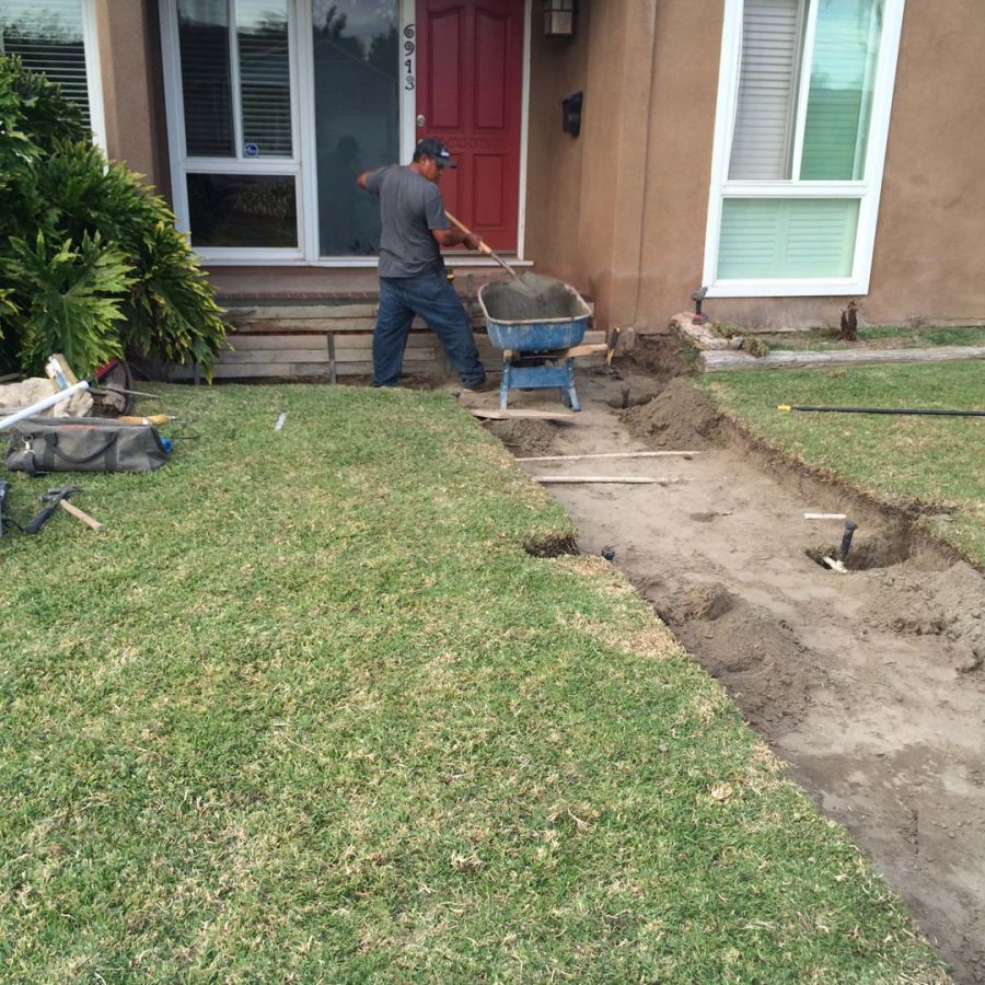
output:
[[[293,8],[162,4],[175,211],[206,256],[301,255]]]

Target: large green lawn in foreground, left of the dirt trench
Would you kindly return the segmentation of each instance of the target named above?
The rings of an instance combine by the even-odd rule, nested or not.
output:
[[[451,398],[165,393],[104,532],[0,541],[5,981],[943,981]]]

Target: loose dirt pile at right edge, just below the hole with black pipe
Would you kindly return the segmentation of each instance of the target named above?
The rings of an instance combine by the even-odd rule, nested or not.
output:
[[[939,572],[881,572],[872,622],[894,633],[943,637],[959,672],[985,665],[985,578],[963,561]]]

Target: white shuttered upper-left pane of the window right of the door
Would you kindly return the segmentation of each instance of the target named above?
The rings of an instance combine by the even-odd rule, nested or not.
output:
[[[790,177],[803,0],[746,0],[731,181]]]

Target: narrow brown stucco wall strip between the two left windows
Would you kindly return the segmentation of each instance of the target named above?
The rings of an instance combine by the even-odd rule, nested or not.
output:
[[[155,0],[96,0],[109,158],[165,192],[166,136]]]

